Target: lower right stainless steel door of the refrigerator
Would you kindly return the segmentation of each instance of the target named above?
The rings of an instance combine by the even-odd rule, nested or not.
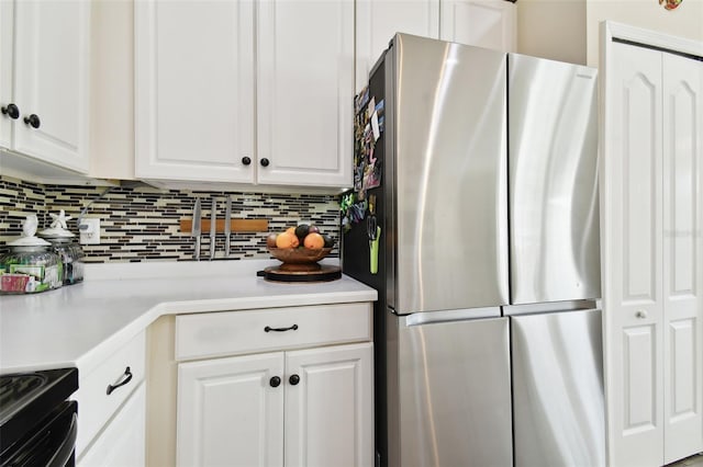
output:
[[[601,311],[510,320],[515,467],[605,466]]]

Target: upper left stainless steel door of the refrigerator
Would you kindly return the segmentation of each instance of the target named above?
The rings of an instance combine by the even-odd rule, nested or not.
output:
[[[384,183],[399,315],[507,303],[505,66],[494,50],[393,39]]]

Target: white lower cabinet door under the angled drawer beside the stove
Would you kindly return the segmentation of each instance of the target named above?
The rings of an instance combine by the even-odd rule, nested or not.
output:
[[[142,384],[90,448],[81,455],[78,467],[144,466],[145,418],[146,385]]]

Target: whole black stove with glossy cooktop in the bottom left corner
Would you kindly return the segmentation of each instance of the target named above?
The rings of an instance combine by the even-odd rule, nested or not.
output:
[[[70,465],[77,389],[77,368],[0,375],[0,466]]]

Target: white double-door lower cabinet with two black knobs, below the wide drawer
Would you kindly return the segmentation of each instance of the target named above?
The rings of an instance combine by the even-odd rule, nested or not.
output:
[[[372,344],[178,366],[180,466],[372,466]]]

